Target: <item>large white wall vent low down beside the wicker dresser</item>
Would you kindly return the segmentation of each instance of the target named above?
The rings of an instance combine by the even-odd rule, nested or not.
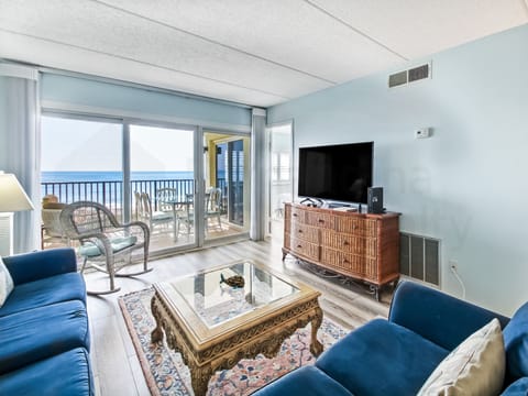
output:
[[[440,241],[400,232],[399,273],[440,286]]]

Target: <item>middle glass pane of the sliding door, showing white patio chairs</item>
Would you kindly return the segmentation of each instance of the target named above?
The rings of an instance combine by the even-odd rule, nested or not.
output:
[[[130,124],[133,218],[151,228],[151,251],[196,246],[194,129]]]

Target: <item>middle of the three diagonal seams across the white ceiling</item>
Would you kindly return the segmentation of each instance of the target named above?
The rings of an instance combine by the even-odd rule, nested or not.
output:
[[[332,80],[330,80],[330,79],[328,79],[328,78],[324,78],[324,77],[321,77],[321,76],[317,76],[317,75],[315,75],[315,74],[312,74],[312,73],[309,73],[309,72],[306,72],[306,70],[301,70],[301,69],[299,69],[299,68],[296,68],[296,67],[293,67],[293,66],[289,66],[289,65],[286,65],[286,64],[283,64],[283,63],[279,63],[279,62],[270,59],[270,58],[266,58],[266,57],[264,57],[264,56],[260,56],[260,55],[256,55],[256,54],[246,52],[246,51],[244,51],[244,50],[241,50],[241,48],[231,46],[231,45],[226,44],[226,43],[221,43],[221,42],[216,41],[216,40],[212,40],[212,38],[210,38],[210,37],[206,37],[206,36],[202,36],[202,35],[199,35],[199,34],[196,34],[196,33],[193,33],[193,32],[189,32],[188,30],[174,26],[174,25],[172,25],[172,24],[168,24],[168,23],[165,23],[165,22],[162,22],[162,21],[158,21],[158,20],[148,18],[148,16],[142,15],[142,14],[140,14],[140,13],[136,13],[136,12],[133,12],[133,11],[130,11],[130,10],[127,10],[127,9],[123,9],[123,8],[113,6],[113,4],[109,4],[109,3],[107,3],[107,2],[105,2],[105,1],[102,1],[102,0],[90,0],[90,1],[91,1],[91,2],[95,2],[95,3],[98,3],[98,4],[101,4],[101,6],[105,6],[105,7],[108,7],[108,8],[111,8],[111,9],[117,10],[117,11],[127,13],[127,14],[129,14],[129,15],[133,15],[133,16],[135,16],[135,18],[140,18],[140,19],[142,19],[142,20],[145,20],[145,21],[148,21],[148,22],[158,24],[158,25],[161,25],[161,26],[168,28],[168,29],[173,29],[173,30],[178,31],[178,32],[180,32],[180,33],[185,33],[185,34],[191,35],[191,36],[194,36],[194,37],[196,37],[196,38],[204,40],[204,41],[206,41],[206,42],[208,42],[208,43],[211,43],[211,44],[215,44],[215,45],[219,45],[219,46],[222,46],[222,47],[228,48],[228,50],[231,50],[231,51],[235,51],[235,52],[238,52],[238,53],[240,53],[240,54],[243,54],[243,55],[253,57],[253,58],[255,58],[255,59],[263,61],[263,62],[270,63],[270,64],[275,65],[275,66],[284,67],[284,68],[289,69],[289,70],[292,70],[292,72],[300,73],[300,74],[302,74],[302,75],[305,75],[305,76],[312,77],[312,78],[319,79],[319,80],[321,80],[321,81],[324,81],[324,82],[328,82],[328,84],[331,84],[331,85],[338,84],[337,81],[332,81]]]

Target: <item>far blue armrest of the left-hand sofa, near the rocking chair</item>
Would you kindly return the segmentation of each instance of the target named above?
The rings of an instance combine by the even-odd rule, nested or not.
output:
[[[2,257],[14,285],[77,271],[75,251],[69,248]]]

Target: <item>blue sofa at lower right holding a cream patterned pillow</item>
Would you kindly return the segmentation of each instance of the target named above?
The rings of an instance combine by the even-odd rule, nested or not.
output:
[[[528,395],[528,304],[512,319],[411,282],[395,292],[388,320],[375,319],[254,393],[272,395],[416,395],[437,365],[497,318],[506,349],[504,395]]]

